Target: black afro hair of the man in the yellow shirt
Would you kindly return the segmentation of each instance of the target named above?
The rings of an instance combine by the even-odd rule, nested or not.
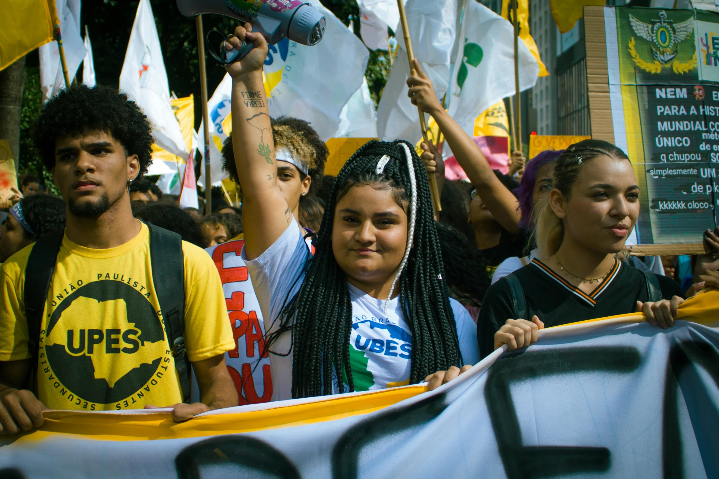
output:
[[[55,167],[55,140],[60,136],[104,131],[125,150],[137,154],[139,174],[144,175],[152,162],[152,129],[137,103],[114,88],[86,85],[60,90],[45,103],[32,131],[32,140],[40,150],[45,167]]]

